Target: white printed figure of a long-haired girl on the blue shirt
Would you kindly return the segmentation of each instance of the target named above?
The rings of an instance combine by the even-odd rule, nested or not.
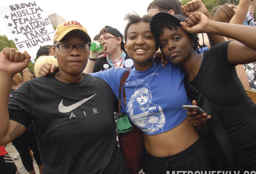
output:
[[[165,116],[161,106],[151,103],[152,93],[145,83],[138,84],[129,101],[128,113],[132,122],[148,134],[159,131],[163,132]]]

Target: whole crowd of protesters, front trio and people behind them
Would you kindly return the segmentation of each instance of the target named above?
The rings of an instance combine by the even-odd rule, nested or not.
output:
[[[246,94],[255,86],[255,6],[241,0],[210,14],[201,0],[154,0],[148,15],[125,16],[124,35],[100,29],[100,51],[90,51],[82,24],[65,22],[26,82],[13,76],[29,72],[29,54],[3,49],[0,171],[19,172],[4,145],[23,137],[35,143],[17,148],[29,173],[33,157],[40,173],[132,173],[116,141],[120,93],[121,111],[143,132],[141,173],[256,171],[256,106]]]

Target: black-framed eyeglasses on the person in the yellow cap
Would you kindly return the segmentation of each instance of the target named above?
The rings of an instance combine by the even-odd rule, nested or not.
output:
[[[79,52],[86,52],[86,51],[89,51],[90,46],[91,46],[91,43],[81,43],[77,45],[72,45],[68,43],[59,43],[59,44],[54,43],[54,47],[57,47],[59,51],[63,53],[71,52],[74,48],[76,48],[77,51]]]

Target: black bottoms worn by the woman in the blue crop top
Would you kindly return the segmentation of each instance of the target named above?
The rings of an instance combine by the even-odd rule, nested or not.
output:
[[[200,138],[179,154],[168,157],[154,157],[145,152],[143,172],[162,174],[166,171],[207,171],[211,170],[204,141]]]

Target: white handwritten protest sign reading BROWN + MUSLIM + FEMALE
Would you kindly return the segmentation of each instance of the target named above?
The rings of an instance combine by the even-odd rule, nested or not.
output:
[[[17,49],[21,52],[26,50],[32,62],[40,46],[52,45],[54,29],[35,1],[0,7],[0,13]]]

